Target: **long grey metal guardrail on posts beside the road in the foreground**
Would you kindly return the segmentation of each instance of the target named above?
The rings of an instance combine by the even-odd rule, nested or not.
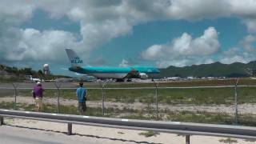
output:
[[[190,143],[190,135],[209,135],[232,138],[256,139],[256,127],[199,124],[190,122],[161,122],[122,118],[102,118],[71,114],[50,114],[18,110],[0,109],[0,125],[3,117],[27,118],[49,122],[68,124],[67,134],[72,134],[72,124],[103,126],[130,130],[153,130],[172,134],[186,135],[186,144]]]

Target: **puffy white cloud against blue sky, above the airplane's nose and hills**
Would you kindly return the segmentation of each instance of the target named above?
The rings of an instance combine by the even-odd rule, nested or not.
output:
[[[170,43],[150,46],[142,51],[141,56],[144,60],[158,61],[158,66],[161,67],[168,64],[168,61],[184,66],[198,57],[216,54],[218,50],[218,32],[214,27],[209,27],[198,38],[193,39],[190,34],[184,33]]]

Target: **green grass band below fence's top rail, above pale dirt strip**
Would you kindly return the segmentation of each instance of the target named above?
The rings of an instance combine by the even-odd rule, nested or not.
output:
[[[256,87],[238,87],[238,103],[255,103]],[[31,97],[31,90],[18,90],[18,95]],[[46,98],[57,98],[57,90],[45,90]],[[77,99],[75,90],[60,90],[60,98]],[[154,103],[155,90],[104,90],[108,102]],[[88,90],[89,101],[102,101],[102,90]],[[234,88],[159,89],[158,102],[165,104],[234,104]]]

